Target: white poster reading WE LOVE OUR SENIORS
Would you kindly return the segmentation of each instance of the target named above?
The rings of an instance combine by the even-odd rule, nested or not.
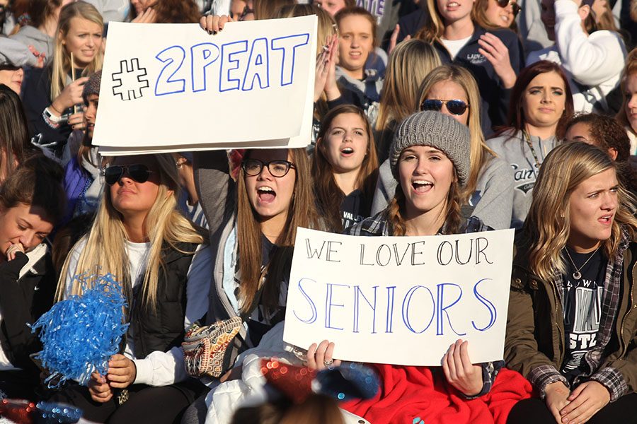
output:
[[[283,339],[335,342],[334,358],[440,365],[469,341],[473,363],[503,358],[513,230],[354,237],[297,230]]]

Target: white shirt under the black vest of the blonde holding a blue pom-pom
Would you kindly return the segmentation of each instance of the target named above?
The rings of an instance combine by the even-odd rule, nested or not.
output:
[[[85,245],[86,238],[78,242],[69,254],[69,271],[67,271],[65,279],[67,284],[66,297],[71,294],[71,284],[69,283],[73,281],[77,262]],[[126,250],[130,261],[132,286],[134,287],[141,283],[144,278],[150,243],[133,243],[127,241]],[[197,247],[193,261],[190,262],[187,278],[184,328],[188,328],[190,324],[203,317],[208,311],[208,293],[210,292],[210,279],[212,278],[212,254],[208,245],[200,245]],[[134,355],[132,329],[130,329],[130,327],[127,336],[124,355],[132,359],[135,363],[135,367],[137,367],[135,384],[167,386],[183,381],[188,377],[183,363],[183,350],[180,346],[171,348],[168,352],[154,351],[144,359],[136,359]]]

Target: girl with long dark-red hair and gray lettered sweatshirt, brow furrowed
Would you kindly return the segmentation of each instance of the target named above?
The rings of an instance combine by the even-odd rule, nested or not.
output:
[[[487,141],[487,146],[513,168],[511,228],[522,227],[540,166],[563,139],[572,115],[570,86],[558,64],[539,61],[520,72],[507,126]]]

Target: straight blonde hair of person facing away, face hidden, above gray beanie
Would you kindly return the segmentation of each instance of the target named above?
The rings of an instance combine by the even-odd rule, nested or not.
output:
[[[400,123],[418,110],[418,87],[425,76],[441,64],[436,50],[423,40],[408,40],[396,45],[385,71],[376,120],[378,131],[386,129],[391,121]]]

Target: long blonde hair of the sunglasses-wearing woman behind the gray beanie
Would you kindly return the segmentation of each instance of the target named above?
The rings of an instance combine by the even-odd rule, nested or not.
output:
[[[453,81],[462,87],[466,94],[467,100],[469,100],[469,119],[467,120],[467,126],[469,126],[469,134],[471,134],[471,152],[469,158],[471,160],[471,171],[469,172],[469,178],[466,180],[466,186],[460,194],[462,204],[466,204],[471,195],[476,191],[478,185],[478,177],[484,165],[488,161],[495,157],[495,153],[488,148],[484,141],[484,135],[482,127],[480,126],[480,94],[478,92],[478,84],[471,72],[455,65],[442,65],[431,71],[427,78],[423,81],[423,84],[418,90],[418,108],[420,104],[427,98],[432,87],[440,81]]]

